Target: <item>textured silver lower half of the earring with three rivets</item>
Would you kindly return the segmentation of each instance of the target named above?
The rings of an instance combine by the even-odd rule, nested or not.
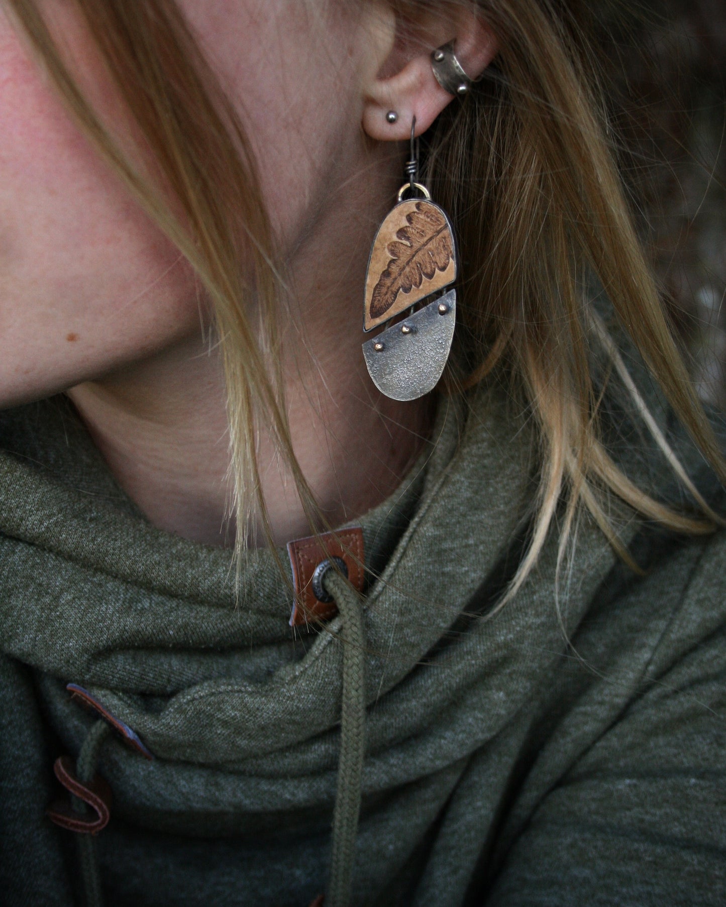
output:
[[[363,344],[368,374],[393,400],[428,394],[444,372],[456,325],[456,290]]]

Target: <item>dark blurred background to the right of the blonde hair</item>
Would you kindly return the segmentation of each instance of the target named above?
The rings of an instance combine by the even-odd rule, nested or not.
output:
[[[726,0],[584,0],[614,139],[704,400],[726,405]]]

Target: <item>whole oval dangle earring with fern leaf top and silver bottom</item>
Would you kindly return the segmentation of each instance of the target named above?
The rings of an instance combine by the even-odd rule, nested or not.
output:
[[[370,250],[363,330],[387,325],[363,344],[368,374],[393,400],[416,400],[441,377],[454,338],[454,230],[446,212],[418,182],[416,117],[411,124],[408,182],[378,228]],[[404,199],[404,196],[411,197]],[[418,306],[423,300],[423,305]],[[409,309],[396,324],[391,319]]]

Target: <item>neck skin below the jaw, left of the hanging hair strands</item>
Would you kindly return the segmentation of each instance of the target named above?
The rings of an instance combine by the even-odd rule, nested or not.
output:
[[[68,391],[116,480],[148,519],[217,545],[229,535],[222,389],[219,357],[199,337]]]

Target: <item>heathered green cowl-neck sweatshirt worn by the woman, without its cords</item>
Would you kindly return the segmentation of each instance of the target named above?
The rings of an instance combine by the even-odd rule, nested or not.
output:
[[[529,436],[495,390],[462,413],[363,520],[383,572],[353,902],[723,904],[723,533],[631,521],[638,578],[583,519],[560,583],[572,645],[554,537],[492,616],[524,541]],[[4,414],[0,446],[0,900],[78,902],[73,835],[44,818],[54,757],[92,724],[73,681],[155,756],[103,747],[109,904],[307,907],[328,872],[338,622],[293,639],[267,551],[236,607],[229,553],[150,527],[57,402]]]

